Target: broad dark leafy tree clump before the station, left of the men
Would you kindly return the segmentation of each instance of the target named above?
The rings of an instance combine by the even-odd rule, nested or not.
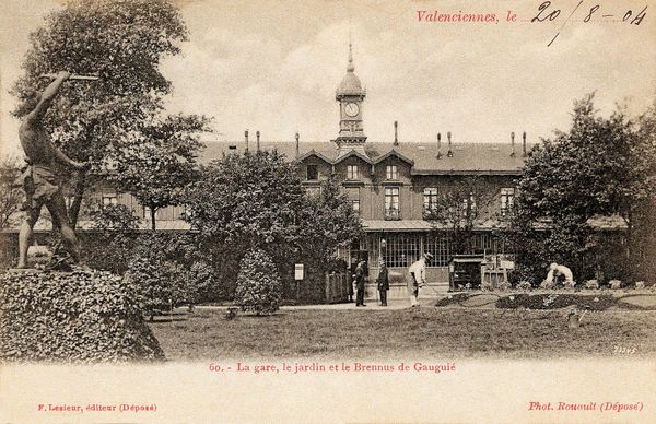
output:
[[[277,152],[227,154],[203,169],[185,198],[186,219],[200,231],[229,296],[239,260],[254,248],[271,257],[285,287],[298,261],[312,264],[308,279],[323,287],[324,273],[339,268],[337,247],[361,231],[335,180],[325,181],[318,197],[307,197],[296,166]]]

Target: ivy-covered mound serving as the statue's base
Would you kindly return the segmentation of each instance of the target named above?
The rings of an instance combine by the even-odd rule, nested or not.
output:
[[[0,358],[122,362],[164,353],[124,279],[75,269],[0,275]]]

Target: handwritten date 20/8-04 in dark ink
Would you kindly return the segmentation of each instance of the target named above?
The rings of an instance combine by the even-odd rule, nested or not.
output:
[[[612,11],[605,10],[606,7],[602,8],[600,4],[594,4],[589,8],[588,7],[582,8],[584,2],[585,2],[585,0],[581,0],[576,4],[576,7],[570,12],[569,16],[564,20],[563,24],[561,25],[560,30],[555,33],[553,38],[551,38],[551,42],[549,42],[548,46],[551,46],[551,44],[555,40],[555,38],[558,38],[558,36],[560,35],[560,32],[565,26],[565,24],[570,21],[573,21],[572,17],[574,16],[574,13],[576,13],[576,11],[579,9],[583,13],[585,13],[585,16],[583,16],[584,23],[588,23],[593,20],[597,20],[597,21],[613,20],[613,21],[625,22],[630,25],[640,25],[647,14],[646,5],[640,11],[639,10],[634,11],[634,10],[628,9],[628,10],[623,10],[620,13],[616,14]],[[544,1],[538,7],[538,13],[530,20],[530,22],[555,21],[561,15],[561,12],[562,12],[562,10],[558,9],[555,5],[552,5],[551,1]],[[581,17],[578,17],[578,20],[581,20]]]

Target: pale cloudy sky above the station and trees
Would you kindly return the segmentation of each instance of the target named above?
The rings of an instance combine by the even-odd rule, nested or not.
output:
[[[597,92],[602,113],[616,103],[643,111],[656,96],[656,2],[607,1],[584,23],[584,1],[559,1],[553,22],[530,23],[542,1],[179,1],[190,31],[184,55],[163,63],[173,113],[214,117],[219,140],[327,141],[337,137],[335,90],[345,74],[349,32],[355,74],[367,89],[370,141],[529,142],[567,129],[575,98]],[[589,4],[588,4],[589,3]],[[28,34],[60,4],[4,0],[0,16],[0,149],[17,154],[17,121],[7,91],[21,74]],[[621,20],[648,4],[640,25]],[[418,10],[495,13],[499,23],[418,22]],[[518,22],[507,23],[507,11]],[[552,8],[554,10],[554,8]],[[612,17],[601,17],[613,14]],[[254,136],[253,136],[254,137]],[[210,139],[211,139],[210,138]]]

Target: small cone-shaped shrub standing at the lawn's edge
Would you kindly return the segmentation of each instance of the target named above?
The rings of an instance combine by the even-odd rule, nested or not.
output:
[[[272,314],[280,307],[282,284],[271,258],[262,250],[249,250],[239,263],[235,305],[242,310]]]

